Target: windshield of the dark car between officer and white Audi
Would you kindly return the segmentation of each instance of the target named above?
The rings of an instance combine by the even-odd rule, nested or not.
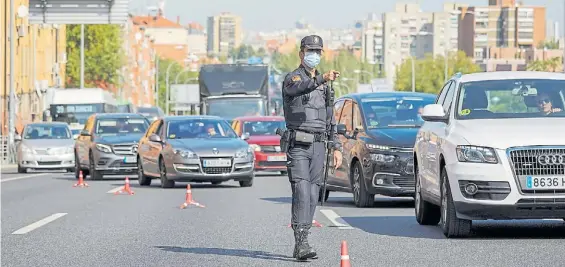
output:
[[[368,129],[420,127],[424,106],[433,104],[432,97],[363,98],[361,104]]]

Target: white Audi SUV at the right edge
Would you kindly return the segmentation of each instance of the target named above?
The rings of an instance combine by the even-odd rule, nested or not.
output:
[[[446,237],[472,220],[565,218],[565,74],[456,74],[424,107],[416,219]]]

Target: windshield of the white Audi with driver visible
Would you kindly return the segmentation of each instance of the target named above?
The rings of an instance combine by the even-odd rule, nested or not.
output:
[[[565,117],[565,81],[509,79],[462,83],[456,118]]]

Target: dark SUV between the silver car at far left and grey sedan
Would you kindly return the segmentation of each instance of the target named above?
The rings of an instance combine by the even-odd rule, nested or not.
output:
[[[149,122],[140,114],[91,115],[75,142],[76,178],[80,171],[92,180],[137,174],[137,143],[148,127]]]

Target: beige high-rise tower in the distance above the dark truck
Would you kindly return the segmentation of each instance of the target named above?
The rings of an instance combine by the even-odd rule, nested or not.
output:
[[[242,37],[241,17],[222,13],[208,18],[208,55],[227,55]]]

